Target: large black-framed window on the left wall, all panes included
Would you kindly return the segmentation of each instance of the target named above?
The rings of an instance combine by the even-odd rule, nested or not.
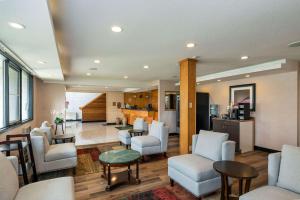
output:
[[[33,77],[0,51],[0,131],[33,119]]]

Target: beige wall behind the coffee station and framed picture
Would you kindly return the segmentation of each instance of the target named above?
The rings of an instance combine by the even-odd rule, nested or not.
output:
[[[199,85],[198,92],[208,92],[210,102],[226,112],[229,86],[256,83],[255,145],[281,150],[283,144],[297,145],[298,72],[250,77],[234,81]]]

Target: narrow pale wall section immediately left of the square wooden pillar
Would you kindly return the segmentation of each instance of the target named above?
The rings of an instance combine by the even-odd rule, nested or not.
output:
[[[179,91],[175,81],[159,80],[158,84],[158,120],[165,122],[169,133],[176,133],[176,111],[165,110],[165,92]]]

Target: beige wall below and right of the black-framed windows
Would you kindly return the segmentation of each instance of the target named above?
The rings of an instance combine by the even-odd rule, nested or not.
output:
[[[4,140],[7,134],[22,133],[23,129],[28,126],[31,128],[39,127],[45,120],[53,122],[54,116],[51,115],[51,111],[54,109],[65,113],[64,85],[43,83],[40,79],[34,78],[33,87],[33,120],[1,133],[0,141]]]

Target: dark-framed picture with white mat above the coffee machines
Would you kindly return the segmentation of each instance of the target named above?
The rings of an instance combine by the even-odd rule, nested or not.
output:
[[[229,104],[238,106],[239,103],[249,103],[250,110],[255,111],[256,84],[234,85],[229,88]]]

